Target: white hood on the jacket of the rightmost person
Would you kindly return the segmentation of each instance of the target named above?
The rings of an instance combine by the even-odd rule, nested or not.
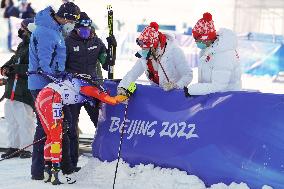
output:
[[[217,33],[217,39],[212,48],[215,52],[236,50],[237,44],[237,35],[232,30],[221,28]]]

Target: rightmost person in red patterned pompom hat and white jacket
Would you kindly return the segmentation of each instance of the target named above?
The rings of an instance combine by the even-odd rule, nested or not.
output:
[[[188,86],[189,95],[240,90],[241,66],[235,33],[229,29],[220,29],[217,33],[212,15],[204,13],[192,34],[201,52],[198,83]]]

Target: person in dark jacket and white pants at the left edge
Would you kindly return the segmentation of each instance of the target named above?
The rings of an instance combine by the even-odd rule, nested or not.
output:
[[[7,99],[4,113],[8,122],[7,145],[9,147],[8,151],[1,155],[1,158],[31,157],[29,150],[20,153],[14,152],[32,143],[35,130],[33,98],[28,90],[28,77],[26,75],[33,21],[32,18],[22,21],[21,28],[18,30],[22,42],[18,45],[15,55],[1,67],[1,75],[8,77],[4,94]]]

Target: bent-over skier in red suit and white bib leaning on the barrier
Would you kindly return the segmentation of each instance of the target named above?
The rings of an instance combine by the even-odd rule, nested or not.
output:
[[[37,113],[46,134],[44,145],[44,181],[51,182],[53,185],[62,184],[58,173],[60,171],[61,152],[62,152],[62,124],[64,105],[77,103],[95,103],[96,99],[116,105],[126,99],[122,95],[110,97],[102,91],[99,86],[90,84],[85,77],[68,74],[65,80],[56,79],[54,76],[44,74],[45,77],[52,78],[55,82],[48,84],[38,94],[35,102]],[[67,175],[67,182],[75,182],[73,176]],[[72,180],[71,180],[72,179]]]

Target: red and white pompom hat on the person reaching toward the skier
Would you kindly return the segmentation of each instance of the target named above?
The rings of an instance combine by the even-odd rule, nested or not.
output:
[[[156,22],[151,22],[146,26],[137,38],[136,42],[141,48],[157,48],[159,45],[159,35],[162,34],[159,30],[159,25]]]

